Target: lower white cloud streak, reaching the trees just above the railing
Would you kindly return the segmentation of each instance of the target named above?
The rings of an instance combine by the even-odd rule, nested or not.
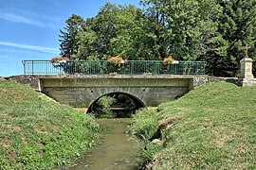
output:
[[[58,48],[47,48],[42,46],[27,45],[27,44],[21,44],[21,43],[0,42],[0,45],[29,49],[34,51],[41,51],[41,52],[51,53],[51,54],[56,54],[60,52]]]

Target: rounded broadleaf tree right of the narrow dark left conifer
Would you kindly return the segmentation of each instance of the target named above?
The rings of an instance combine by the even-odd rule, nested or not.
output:
[[[77,34],[76,59],[108,59],[110,56],[153,59],[145,27],[141,9],[106,3],[97,16],[86,20]]]

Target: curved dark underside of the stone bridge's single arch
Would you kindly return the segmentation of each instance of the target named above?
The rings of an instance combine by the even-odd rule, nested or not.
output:
[[[113,96],[115,94],[122,94],[122,95],[126,95],[127,97],[129,97],[135,104],[135,110],[140,109],[140,108],[145,108],[146,104],[145,102],[143,102],[139,97],[137,97],[136,95],[132,94],[132,93],[125,93],[125,92],[111,92],[111,93],[103,93],[100,96],[98,96],[98,98],[92,100],[89,104],[89,107],[87,109],[87,113],[91,112],[92,110],[94,110],[94,104],[102,97],[102,96],[106,96],[106,95],[110,95]]]

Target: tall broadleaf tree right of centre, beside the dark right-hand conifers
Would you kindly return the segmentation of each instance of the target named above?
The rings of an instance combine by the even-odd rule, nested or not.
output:
[[[204,35],[214,29],[214,0],[143,0],[155,27],[155,47],[161,58],[196,60],[205,53]],[[207,28],[207,29],[206,29]]]

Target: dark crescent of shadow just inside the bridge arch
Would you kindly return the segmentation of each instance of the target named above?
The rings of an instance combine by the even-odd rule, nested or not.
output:
[[[132,110],[132,111],[135,111],[135,110],[138,110],[140,108],[145,108],[146,107],[146,104],[141,101],[139,98],[137,98],[136,96],[134,96],[133,94],[131,93],[121,93],[121,92],[115,92],[115,93],[105,93],[103,95],[101,95],[100,97],[98,97],[96,100],[94,100],[90,106],[88,107],[88,110],[86,111],[87,113],[91,113],[95,110],[95,104],[96,102],[102,97],[102,96],[105,96],[105,95],[110,95],[110,96],[113,96],[113,95],[118,95],[118,94],[122,94],[122,95],[126,95],[128,96],[135,104],[135,108]]]

